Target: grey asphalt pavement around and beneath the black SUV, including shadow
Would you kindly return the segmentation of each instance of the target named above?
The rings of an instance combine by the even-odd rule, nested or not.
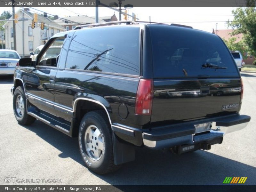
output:
[[[222,185],[226,177],[248,177],[244,185],[256,185],[256,74],[241,75],[240,113],[252,117],[245,129],[225,135],[223,143],[209,151],[175,155],[137,148],[135,161],[108,175],[84,166],[77,138],[38,120],[19,125],[12,110],[13,77],[0,77],[0,185]],[[62,181],[45,183],[48,179]]]

